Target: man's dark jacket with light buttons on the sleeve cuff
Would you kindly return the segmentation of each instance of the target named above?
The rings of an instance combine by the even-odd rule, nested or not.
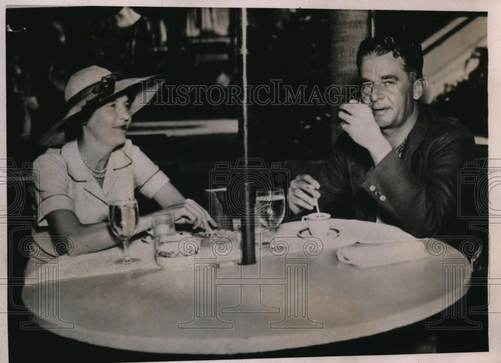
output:
[[[375,167],[367,149],[343,133],[318,177],[320,209],[368,221],[378,214],[419,238],[443,233],[457,221],[458,171],[473,146],[465,127],[424,107],[401,158],[389,152]]]

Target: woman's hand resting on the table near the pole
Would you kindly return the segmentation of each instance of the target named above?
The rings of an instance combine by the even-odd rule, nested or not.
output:
[[[212,228],[210,225],[218,227],[218,224],[212,219],[209,212],[192,199],[185,199],[180,203],[163,208],[157,213],[166,212],[174,214],[176,223],[193,224],[193,229],[200,227],[211,231]]]

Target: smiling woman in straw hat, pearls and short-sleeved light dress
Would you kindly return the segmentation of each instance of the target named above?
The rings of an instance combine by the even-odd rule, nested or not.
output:
[[[134,197],[135,188],[155,199],[163,208],[159,212],[173,213],[176,222],[206,230],[210,223],[217,225],[126,139],[131,115],[155,93],[143,87],[147,79],[124,78],[98,66],[70,78],[65,89],[69,111],[41,137],[39,142],[51,148],[33,164],[38,204],[34,237],[44,252],[78,255],[118,243],[107,221],[108,202]],[[151,226],[153,214],[140,217],[138,232]],[[55,250],[56,236],[72,241],[66,250]]]

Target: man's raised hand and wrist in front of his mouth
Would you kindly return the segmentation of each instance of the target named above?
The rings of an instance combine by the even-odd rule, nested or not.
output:
[[[390,142],[381,133],[381,129],[374,119],[372,109],[363,103],[351,101],[344,103],[340,107],[338,116],[341,128],[360,146],[369,150],[374,165],[377,165],[388,152],[392,150]]]

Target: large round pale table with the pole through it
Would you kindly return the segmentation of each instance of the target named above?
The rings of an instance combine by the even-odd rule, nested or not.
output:
[[[131,243],[131,255],[141,261],[129,266],[113,264],[118,247],[37,262],[23,300],[32,308],[32,324],[80,341],[232,354],[376,334],[425,319],[466,292],[469,263],[442,242],[430,241],[425,258],[362,269],[341,263],[337,248],[412,237],[357,220],[333,219],[331,226],[339,236],[317,243],[296,235],[301,222],[284,223],[277,236],[289,242],[289,251],[258,246],[258,262],[245,266],[234,263],[236,248],[219,251],[226,255],[216,260],[201,253],[159,268],[151,244],[140,241]]]

